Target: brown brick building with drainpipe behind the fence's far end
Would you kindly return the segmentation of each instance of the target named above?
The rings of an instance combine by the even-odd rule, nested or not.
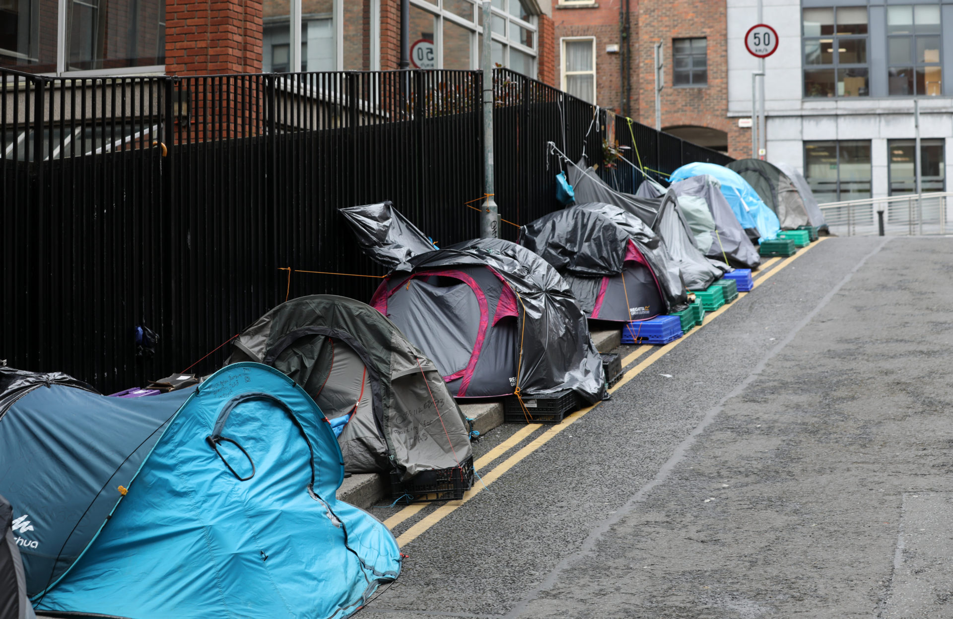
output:
[[[595,75],[591,100],[655,126],[655,45],[661,42],[662,130],[735,157],[750,156],[750,130],[728,117],[724,0],[562,0],[553,12],[565,90],[573,92],[574,82],[587,85],[581,66]],[[586,42],[593,61],[586,65],[586,54],[577,54],[579,65],[570,52],[580,52]]]

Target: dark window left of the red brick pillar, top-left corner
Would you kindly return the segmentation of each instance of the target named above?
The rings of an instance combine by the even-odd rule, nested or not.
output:
[[[165,0],[0,0],[0,67],[57,74],[154,68],[165,64],[165,22]]]

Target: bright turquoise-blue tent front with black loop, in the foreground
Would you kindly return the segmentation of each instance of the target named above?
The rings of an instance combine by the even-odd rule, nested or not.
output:
[[[55,398],[58,390],[86,408],[77,419],[94,417],[103,400],[135,406],[163,398],[115,402],[121,399],[51,385],[19,402],[33,394]],[[11,407],[0,419],[11,424],[0,423],[0,434],[32,421],[39,436],[68,444],[70,421],[61,412],[30,420]],[[125,484],[128,494],[105,488],[117,499],[111,517],[78,560],[33,595],[37,611],[336,619],[397,577],[394,536],[367,512],[336,500],[344,468],[334,432],[284,374],[252,362],[228,365],[161,425],[161,438]],[[95,472],[95,454],[87,463],[65,455]],[[21,497],[14,508],[42,516],[29,503]]]

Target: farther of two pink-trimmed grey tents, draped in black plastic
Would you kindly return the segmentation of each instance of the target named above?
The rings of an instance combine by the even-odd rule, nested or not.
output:
[[[617,206],[591,202],[544,215],[523,226],[519,240],[558,270],[591,319],[650,319],[687,302],[659,236]]]

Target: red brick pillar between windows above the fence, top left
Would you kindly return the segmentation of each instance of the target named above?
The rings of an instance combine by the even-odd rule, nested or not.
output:
[[[261,72],[262,0],[167,0],[166,72]]]

